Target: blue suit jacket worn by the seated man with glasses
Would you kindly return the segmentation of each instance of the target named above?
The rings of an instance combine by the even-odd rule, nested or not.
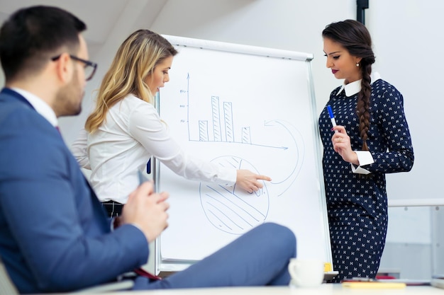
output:
[[[15,91],[0,93],[0,256],[21,293],[109,282],[148,242],[109,219],[62,137]]]

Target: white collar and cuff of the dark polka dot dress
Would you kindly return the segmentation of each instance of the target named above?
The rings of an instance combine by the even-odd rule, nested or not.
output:
[[[378,79],[381,79],[381,76],[378,72],[373,72],[370,76],[370,83],[373,83],[374,81],[377,81]],[[361,91],[361,80],[354,81],[352,83],[343,84],[343,86],[339,89],[339,93],[342,91],[345,91],[345,96],[354,96],[356,93]],[[357,161],[359,161],[359,166],[353,165],[353,163],[350,163],[353,173],[357,174],[369,174],[370,171],[367,169],[362,168],[361,166],[369,165],[374,163],[374,159],[370,151],[355,151],[357,155]]]

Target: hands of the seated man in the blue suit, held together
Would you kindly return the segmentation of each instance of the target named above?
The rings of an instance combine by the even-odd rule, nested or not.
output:
[[[170,204],[165,202],[167,192],[154,192],[152,181],[141,184],[128,197],[128,202],[123,206],[121,224],[133,224],[145,234],[148,243],[167,228],[167,209]]]

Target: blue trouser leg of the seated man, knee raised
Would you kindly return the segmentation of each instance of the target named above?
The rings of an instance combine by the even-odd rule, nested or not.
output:
[[[290,258],[296,257],[296,237],[284,226],[266,223],[160,281],[135,279],[133,289],[287,285]]]

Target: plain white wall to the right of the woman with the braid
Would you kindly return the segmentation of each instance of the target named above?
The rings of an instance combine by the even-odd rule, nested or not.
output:
[[[389,175],[393,199],[443,199],[442,154],[444,96],[441,55],[442,11],[439,0],[371,0],[369,28],[374,35],[382,76],[404,94],[405,112],[415,152],[409,173]]]

